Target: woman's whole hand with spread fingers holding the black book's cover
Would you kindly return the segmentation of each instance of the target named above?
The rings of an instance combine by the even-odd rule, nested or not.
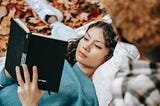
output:
[[[44,91],[38,88],[38,73],[37,67],[33,66],[33,77],[32,82],[30,80],[30,74],[28,72],[27,65],[23,65],[24,70],[24,80],[22,79],[20,68],[16,67],[16,76],[18,81],[18,95],[23,106],[38,106],[40,97],[43,95]]]

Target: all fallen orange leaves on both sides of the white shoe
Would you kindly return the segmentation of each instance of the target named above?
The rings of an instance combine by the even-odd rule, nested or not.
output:
[[[48,0],[64,14],[64,24],[77,28],[106,14],[100,2],[90,0]],[[4,56],[10,31],[11,17],[19,18],[33,32],[50,34],[50,28],[43,23],[25,0],[0,0],[0,57]]]

